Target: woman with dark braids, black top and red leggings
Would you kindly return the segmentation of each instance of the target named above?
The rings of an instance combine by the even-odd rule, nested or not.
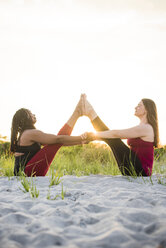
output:
[[[43,133],[35,128],[36,117],[30,110],[19,109],[12,120],[11,152],[15,155],[14,175],[24,171],[27,176],[45,176],[62,145],[85,143],[81,136],[69,136],[77,119],[82,116],[81,96],[72,116],[58,135]],[[41,149],[41,145],[44,147]]]

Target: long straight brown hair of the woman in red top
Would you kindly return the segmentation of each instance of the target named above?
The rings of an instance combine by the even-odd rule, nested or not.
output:
[[[159,128],[158,128],[158,115],[157,107],[153,100],[143,98],[142,102],[147,111],[147,121],[153,127],[154,130],[154,146],[159,146]]]

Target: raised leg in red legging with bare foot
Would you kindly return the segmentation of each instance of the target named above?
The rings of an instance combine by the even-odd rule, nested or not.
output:
[[[82,116],[82,101],[81,96],[80,101],[78,102],[72,116],[69,118],[67,123],[60,129],[58,135],[70,135],[77,119]],[[55,145],[45,145],[35,156],[27,163],[25,167],[25,174],[27,176],[45,176],[47,171],[54,159],[57,151],[61,147],[61,144]]]

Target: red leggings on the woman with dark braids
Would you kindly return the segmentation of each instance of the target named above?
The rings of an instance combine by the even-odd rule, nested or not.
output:
[[[65,124],[58,135],[70,135],[72,128]],[[33,158],[27,163],[25,167],[25,174],[30,177],[33,176],[45,176],[52,163],[52,160],[61,147],[61,144],[45,145],[39,152],[37,152]]]

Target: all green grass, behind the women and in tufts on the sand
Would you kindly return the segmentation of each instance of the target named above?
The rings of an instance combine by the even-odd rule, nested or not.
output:
[[[14,156],[10,154],[9,147],[9,142],[0,143],[0,176],[7,176],[10,180],[10,177],[14,176]],[[158,184],[166,186],[166,147],[155,150],[153,173],[158,175]],[[49,176],[47,200],[56,200],[58,198],[64,200],[66,190],[64,191],[63,188],[63,175],[84,176],[90,174],[121,174],[114,156],[106,144],[92,142],[88,145],[61,147],[47,174]],[[34,177],[28,178],[24,172],[20,171],[17,178],[20,180],[22,192],[28,192],[33,199],[39,197],[39,190],[36,188]],[[137,178],[134,167],[132,175],[127,176],[127,178],[131,182]],[[144,183],[148,181],[153,185],[152,177],[147,179],[142,177],[142,180]],[[54,187],[59,184],[61,184],[61,192],[51,194],[51,188],[54,190]]]

